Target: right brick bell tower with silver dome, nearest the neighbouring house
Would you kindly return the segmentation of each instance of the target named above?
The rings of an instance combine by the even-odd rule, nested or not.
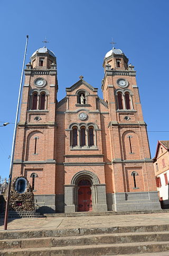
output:
[[[159,208],[136,71],[132,64],[128,65],[123,51],[115,48],[107,52],[103,67],[101,88],[109,106],[112,161],[108,208],[116,211]],[[105,176],[108,183],[109,176],[106,173]]]

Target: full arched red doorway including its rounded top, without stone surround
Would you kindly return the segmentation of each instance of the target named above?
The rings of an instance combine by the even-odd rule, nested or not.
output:
[[[92,211],[91,183],[87,179],[78,183],[78,211]]]

